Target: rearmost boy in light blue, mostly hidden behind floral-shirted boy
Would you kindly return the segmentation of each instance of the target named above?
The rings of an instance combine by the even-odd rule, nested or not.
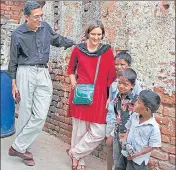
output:
[[[117,73],[129,68],[131,66],[131,63],[132,63],[132,58],[130,54],[128,54],[126,51],[122,51],[115,56],[115,64],[116,64]],[[114,99],[115,95],[118,93],[117,84],[118,84],[118,78],[110,86],[109,99],[107,101],[107,105],[108,105],[108,114],[106,117],[106,122],[107,122],[107,126],[106,126],[107,170],[112,170],[112,166],[113,166],[113,156],[112,156],[113,155],[112,145],[113,145],[113,136],[114,136],[113,129],[114,129],[114,125],[116,122],[115,113],[114,113],[114,110],[112,109],[113,104],[109,104],[109,102],[111,102]],[[136,80],[132,93],[134,95],[135,94],[138,95],[141,90],[142,88],[139,84],[139,81]]]

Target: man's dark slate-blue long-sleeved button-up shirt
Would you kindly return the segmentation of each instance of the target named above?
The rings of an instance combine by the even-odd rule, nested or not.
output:
[[[74,44],[72,40],[54,32],[44,21],[36,32],[30,31],[24,23],[11,36],[8,73],[15,79],[18,65],[47,64],[50,45],[68,48]]]

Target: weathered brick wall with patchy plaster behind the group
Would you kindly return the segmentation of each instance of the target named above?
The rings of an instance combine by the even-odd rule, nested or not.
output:
[[[5,6],[11,8],[11,3],[2,2],[4,16],[9,17],[5,14],[8,9]],[[111,44],[114,54],[119,49],[130,51],[134,61],[132,67],[143,88],[155,90],[162,98],[155,114],[161,128],[162,147],[152,152],[150,169],[175,169],[175,3],[46,1],[43,11],[45,20],[58,33],[72,39],[79,37],[90,19],[101,18],[106,29],[104,42]],[[50,73],[54,91],[44,127],[46,132],[67,143],[70,143],[72,130],[71,118],[66,117],[71,90],[66,68],[71,50],[51,48]],[[105,141],[92,154],[106,159]]]

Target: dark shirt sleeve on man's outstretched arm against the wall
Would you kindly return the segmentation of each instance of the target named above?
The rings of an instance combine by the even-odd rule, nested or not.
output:
[[[76,44],[73,40],[63,37],[60,34],[53,31],[50,25],[48,25],[48,27],[49,27],[49,32],[51,35],[51,45],[52,46],[65,47],[65,49],[67,49]]]

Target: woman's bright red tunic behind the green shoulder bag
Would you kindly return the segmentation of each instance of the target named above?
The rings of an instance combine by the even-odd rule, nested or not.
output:
[[[75,74],[77,69],[78,84],[93,84],[98,57],[90,57],[80,51],[78,47],[73,49],[68,65],[68,74]],[[106,123],[107,87],[116,79],[116,70],[112,49],[109,48],[101,55],[97,81],[95,85],[93,104],[76,105],[72,103],[74,90],[69,98],[68,116],[89,122]]]

